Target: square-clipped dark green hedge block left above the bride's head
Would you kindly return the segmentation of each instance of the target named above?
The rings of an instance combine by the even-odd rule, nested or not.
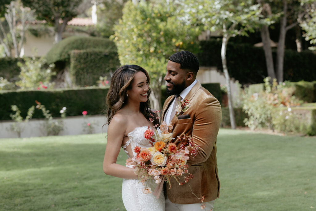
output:
[[[97,85],[100,76],[119,67],[116,51],[73,50],[70,53],[70,77],[77,86]]]

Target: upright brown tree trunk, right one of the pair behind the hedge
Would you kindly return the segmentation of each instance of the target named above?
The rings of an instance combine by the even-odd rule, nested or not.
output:
[[[286,21],[287,21],[288,3],[283,1],[283,16],[280,20],[280,35],[276,54],[276,78],[278,82],[283,82],[283,64],[284,64],[284,48],[286,35]]]

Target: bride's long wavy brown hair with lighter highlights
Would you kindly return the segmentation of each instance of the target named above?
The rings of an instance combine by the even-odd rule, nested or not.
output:
[[[126,91],[131,90],[131,84],[133,82],[134,76],[138,71],[145,73],[148,84],[150,82],[147,71],[138,65],[123,65],[119,67],[112,75],[111,84],[109,91],[106,95],[106,103],[108,106],[106,115],[107,123],[110,124],[113,116],[116,112],[121,109],[127,102]],[[147,91],[147,102],[140,102],[140,112],[149,118],[150,106],[149,106],[149,96],[150,89]]]

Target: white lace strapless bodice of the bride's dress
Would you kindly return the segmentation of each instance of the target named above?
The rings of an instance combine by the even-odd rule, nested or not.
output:
[[[128,157],[129,154],[126,151],[126,147],[128,145],[131,145],[133,156],[136,156],[136,153],[134,152],[135,146],[139,147],[150,147],[149,140],[144,138],[144,132],[147,130],[148,126],[142,126],[142,127],[136,127],[133,131],[127,134],[129,140],[126,141],[125,145],[122,146],[124,152],[127,154]]]

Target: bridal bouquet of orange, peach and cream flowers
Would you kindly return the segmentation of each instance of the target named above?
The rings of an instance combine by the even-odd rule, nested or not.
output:
[[[140,182],[145,185],[145,181],[154,177],[155,182],[161,186],[165,179],[171,188],[170,179],[174,178],[179,185],[183,185],[193,178],[193,175],[188,172],[189,153],[195,156],[197,147],[193,143],[191,136],[183,135],[177,137],[181,141],[180,149],[171,142],[172,133],[168,130],[173,126],[169,123],[162,122],[156,130],[148,127],[144,132],[144,138],[149,140],[151,147],[141,148],[136,146],[133,150],[136,157],[126,160],[126,164],[134,165],[135,173],[139,176]],[[193,149],[189,151],[189,149]],[[180,176],[187,174],[184,181],[180,182]],[[162,186],[161,186],[162,188]],[[146,186],[143,188],[144,193],[151,193],[151,189]],[[156,191],[155,191],[156,192]]]

